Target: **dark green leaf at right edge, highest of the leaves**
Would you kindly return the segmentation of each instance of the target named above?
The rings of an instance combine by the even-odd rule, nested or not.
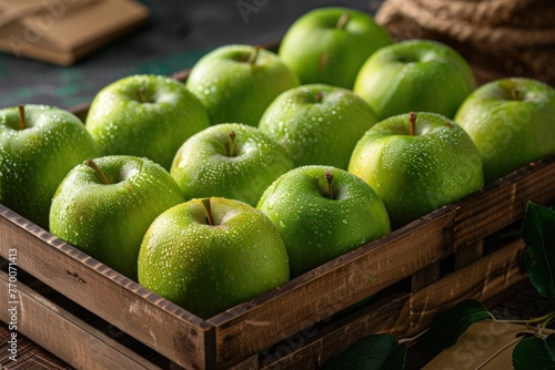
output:
[[[542,296],[555,297],[555,210],[529,202],[522,236],[522,261],[532,285]]]

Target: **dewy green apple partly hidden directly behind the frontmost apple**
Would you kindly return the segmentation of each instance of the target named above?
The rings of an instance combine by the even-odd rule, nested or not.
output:
[[[220,123],[183,143],[170,174],[185,199],[220,196],[255,206],[266,187],[293,167],[285,150],[259,129]]]

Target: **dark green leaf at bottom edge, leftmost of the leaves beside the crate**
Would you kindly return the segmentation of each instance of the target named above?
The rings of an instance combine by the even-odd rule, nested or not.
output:
[[[323,370],[402,370],[406,348],[390,335],[370,336],[359,340],[327,361]]]

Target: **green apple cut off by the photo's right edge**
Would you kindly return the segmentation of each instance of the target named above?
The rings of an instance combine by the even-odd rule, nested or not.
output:
[[[472,137],[491,183],[555,153],[555,89],[537,80],[508,78],[474,91],[455,122]]]

